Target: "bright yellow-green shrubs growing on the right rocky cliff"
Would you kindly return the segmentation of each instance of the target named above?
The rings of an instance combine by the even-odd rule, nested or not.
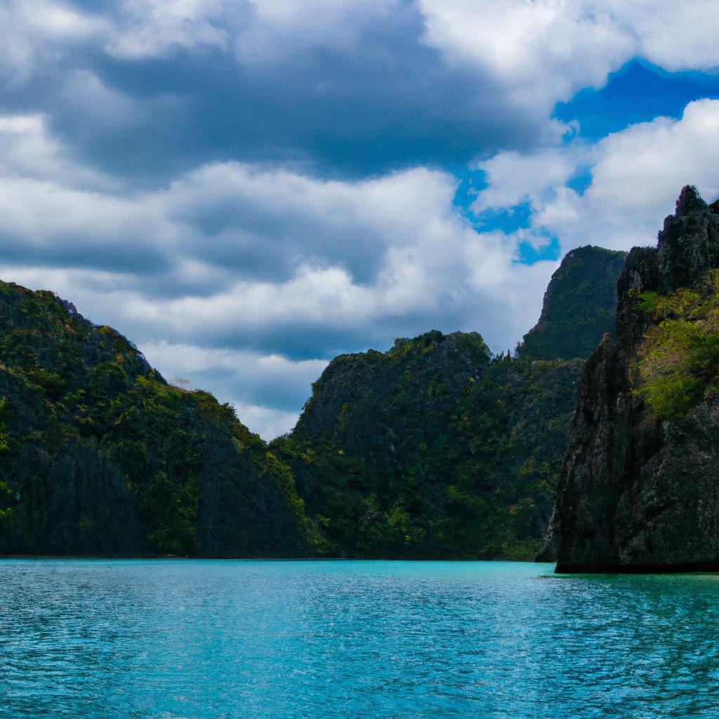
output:
[[[651,325],[638,349],[634,391],[657,417],[681,418],[719,388],[719,270],[695,288],[635,297]]]

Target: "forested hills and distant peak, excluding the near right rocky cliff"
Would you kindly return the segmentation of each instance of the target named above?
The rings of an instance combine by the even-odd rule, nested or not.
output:
[[[569,253],[514,357],[439,331],[337,357],[270,446],[68,301],[2,283],[0,552],[530,558],[622,265]]]

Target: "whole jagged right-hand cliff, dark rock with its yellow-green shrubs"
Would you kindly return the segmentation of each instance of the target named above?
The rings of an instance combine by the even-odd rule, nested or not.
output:
[[[719,569],[719,216],[686,187],[582,370],[544,551],[557,572]]]

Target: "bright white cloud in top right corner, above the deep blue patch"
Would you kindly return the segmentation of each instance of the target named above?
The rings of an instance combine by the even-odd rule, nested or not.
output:
[[[551,111],[641,56],[667,70],[719,65],[719,14],[704,0],[418,0],[424,40],[453,64],[500,78],[518,106]]]

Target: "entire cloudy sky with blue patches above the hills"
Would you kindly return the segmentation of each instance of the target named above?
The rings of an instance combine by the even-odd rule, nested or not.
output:
[[[0,0],[0,278],[270,439],[337,354],[512,349],[569,249],[719,197],[717,37],[710,0]]]

